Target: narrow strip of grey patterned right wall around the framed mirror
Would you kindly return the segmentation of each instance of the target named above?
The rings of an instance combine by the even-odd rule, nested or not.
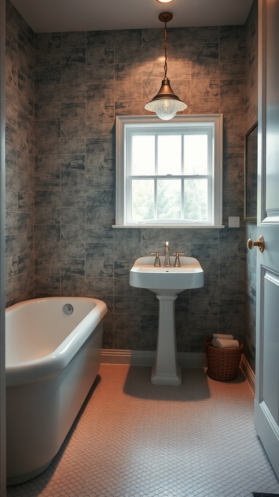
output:
[[[246,21],[245,133],[258,120],[258,2],[254,0]],[[245,223],[245,240],[257,240],[257,223]],[[245,249],[245,356],[255,370],[256,250]]]

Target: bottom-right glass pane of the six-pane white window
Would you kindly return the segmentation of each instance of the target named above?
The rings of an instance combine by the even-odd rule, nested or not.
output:
[[[192,221],[208,221],[208,180],[184,180],[184,218]]]

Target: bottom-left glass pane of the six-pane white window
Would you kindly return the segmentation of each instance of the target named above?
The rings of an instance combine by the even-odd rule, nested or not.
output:
[[[154,179],[132,179],[132,220],[154,219]]]

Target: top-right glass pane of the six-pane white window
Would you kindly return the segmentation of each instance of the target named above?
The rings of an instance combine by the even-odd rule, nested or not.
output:
[[[184,135],[184,174],[208,174],[208,135]]]

